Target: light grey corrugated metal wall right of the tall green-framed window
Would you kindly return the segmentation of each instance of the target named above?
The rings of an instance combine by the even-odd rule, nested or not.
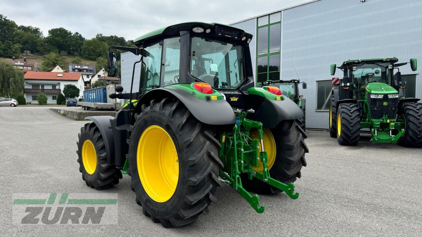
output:
[[[422,62],[422,1],[321,0],[282,12],[282,78],[308,84],[306,125],[328,128],[328,112],[316,109],[316,80],[330,79],[329,66],[347,59],[397,57]],[[417,73],[421,70],[419,67]],[[402,74],[414,73],[410,66]],[[337,70],[335,76],[342,77]],[[416,97],[422,97],[422,77],[416,76]]]

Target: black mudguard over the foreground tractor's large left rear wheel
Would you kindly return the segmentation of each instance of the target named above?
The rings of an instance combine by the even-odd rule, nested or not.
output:
[[[235,124],[235,114],[232,107],[225,100],[205,101],[192,96],[187,91],[179,88],[157,88],[147,92],[136,105],[135,112],[139,113],[143,104],[149,104],[151,100],[161,100],[165,97],[179,99],[192,115],[200,122],[210,125]],[[296,106],[298,107],[298,106]]]

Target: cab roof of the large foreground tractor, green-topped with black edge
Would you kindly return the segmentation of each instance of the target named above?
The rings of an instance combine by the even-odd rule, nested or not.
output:
[[[136,46],[142,46],[146,43],[149,42],[153,42],[156,40],[160,40],[162,38],[167,38],[167,37],[176,37],[176,36],[180,36],[180,32],[181,31],[190,31],[192,32],[192,29],[194,27],[201,27],[204,29],[204,32],[202,32],[203,35],[207,34],[205,31],[206,29],[210,28],[211,32],[214,32],[214,34],[216,33],[216,28],[231,28],[231,29],[236,29],[236,32],[241,32],[240,34],[240,38],[242,38],[243,36],[246,36],[247,38],[252,38],[252,35],[245,32],[243,29],[239,29],[237,27],[233,27],[233,26],[228,26],[225,24],[219,24],[219,23],[205,23],[205,22],[185,22],[185,23],[180,23],[180,24],[174,24],[168,27],[162,27],[160,29],[156,29],[154,31],[151,31],[145,35],[142,35],[138,38],[136,38],[134,40],[135,45]],[[210,32],[210,34],[211,34]],[[192,32],[193,33],[193,32]],[[230,35],[230,34],[228,34]],[[228,36],[225,35],[226,37],[232,38],[232,39],[238,39],[237,35],[231,35]],[[240,39],[239,39],[240,40]],[[245,40],[246,41],[246,40]]]

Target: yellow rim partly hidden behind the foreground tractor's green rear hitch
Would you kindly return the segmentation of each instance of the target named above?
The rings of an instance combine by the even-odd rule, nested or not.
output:
[[[262,129],[262,132],[263,132],[262,141],[264,142],[264,149],[267,152],[267,156],[268,156],[267,166],[268,166],[268,170],[270,170],[271,167],[273,167],[274,165],[274,161],[276,160],[276,141],[274,140],[273,134],[268,128]],[[252,130],[249,136],[252,139],[258,139],[258,140],[260,139],[258,130]],[[261,142],[259,143],[258,146],[260,147],[259,152],[261,152],[262,151]],[[264,170],[264,167],[262,166],[262,162],[259,161],[258,166],[252,167],[252,169],[257,172],[262,173],[262,171]]]

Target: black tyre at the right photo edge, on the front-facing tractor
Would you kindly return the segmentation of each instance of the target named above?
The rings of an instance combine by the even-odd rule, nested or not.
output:
[[[405,132],[398,140],[400,146],[422,147],[422,104],[403,103],[398,115],[405,120]]]

